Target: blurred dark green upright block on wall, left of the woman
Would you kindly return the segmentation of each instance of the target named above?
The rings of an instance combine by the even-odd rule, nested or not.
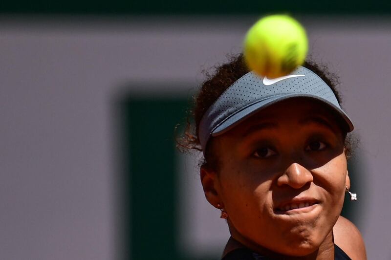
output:
[[[174,126],[182,100],[130,100],[129,127],[132,260],[178,259]]]

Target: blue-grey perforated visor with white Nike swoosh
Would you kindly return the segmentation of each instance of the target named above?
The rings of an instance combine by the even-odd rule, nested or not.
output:
[[[198,136],[202,150],[211,136],[220,135],[276,102],[294,97],[322,101],[334,109],[350,132],[353,123],[338,104],[331,88],[314,72],[300,66],[290,75],[267,79],[249,72],[228,87],[201,119]]]

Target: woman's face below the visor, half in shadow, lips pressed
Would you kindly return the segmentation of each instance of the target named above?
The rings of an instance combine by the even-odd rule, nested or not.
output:
[[[344,135],[327,108],[286,100],[213,142],[214,187],[239,242],[304,256],[330,235],[348,176]]]

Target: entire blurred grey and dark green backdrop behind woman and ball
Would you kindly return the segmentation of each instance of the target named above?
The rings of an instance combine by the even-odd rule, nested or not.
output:
[[[353,0],[2,1],[0,259],[219,259],[226,223],[174,126],[272,13],[340,76],[360,139],[344,215],[368,259],[391,259],[391,4]]]

